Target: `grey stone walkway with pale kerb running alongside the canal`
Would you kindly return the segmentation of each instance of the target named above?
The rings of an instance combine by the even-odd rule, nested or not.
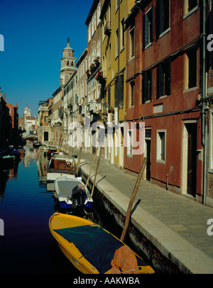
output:
[[[77,148],[73,152],[79,155]],[[80,168],[86,175],[89,175],[93,157],[83,150],[81,160],[85,161]],[[96,183],[99,191],[125,216],[136,176],[126,174],[101,158]],[[187,273],[213,274],[213,236],[207,235],[207,220],[213,218],[212,208],[143,180],[134,204],[138,205],[131,216],[133,225],[165,257]]]

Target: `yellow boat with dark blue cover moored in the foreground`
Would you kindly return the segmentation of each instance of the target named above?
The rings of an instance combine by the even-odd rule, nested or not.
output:
[[[50,232],[83,274],[151,274],[154,270],[118,238],[84,218],[55,213]]]

